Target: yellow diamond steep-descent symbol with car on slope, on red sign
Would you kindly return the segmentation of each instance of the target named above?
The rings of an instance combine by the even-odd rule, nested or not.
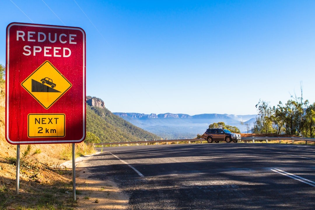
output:
[[[45,109],[49,109],[72,86],[48,60],[31,73],[21,85]]]

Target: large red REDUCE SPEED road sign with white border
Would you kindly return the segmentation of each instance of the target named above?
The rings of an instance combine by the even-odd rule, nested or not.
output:
[[[6,44],[5,136],[10,144],[85,138],[85,32],[11,23]]]

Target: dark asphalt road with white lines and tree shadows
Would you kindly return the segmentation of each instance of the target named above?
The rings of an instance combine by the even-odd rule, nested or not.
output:
[[[314,146],[106,147],[87,164],[129,194],[130,210],[315,209]]]

